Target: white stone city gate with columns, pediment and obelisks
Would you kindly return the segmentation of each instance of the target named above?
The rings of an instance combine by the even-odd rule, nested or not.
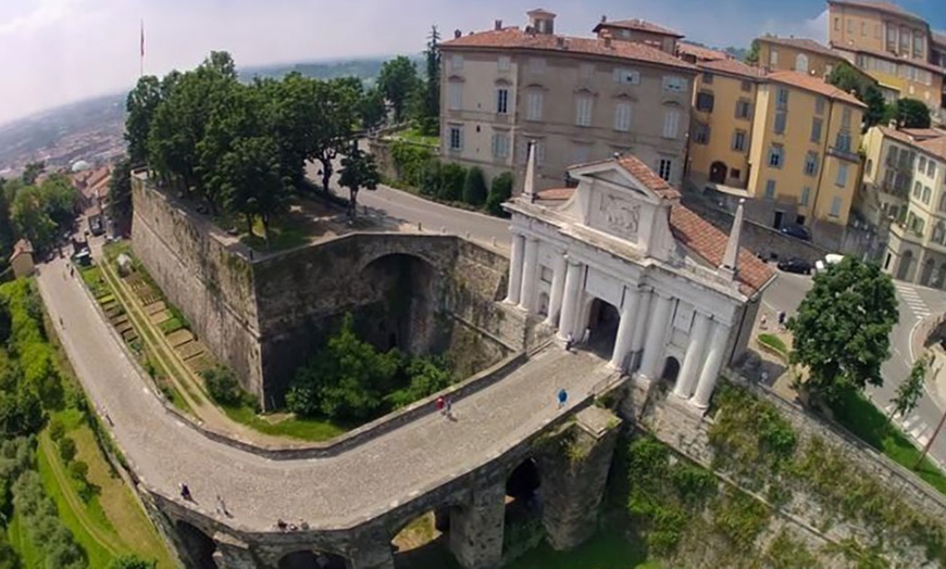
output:
[[[568,195],[544,200],[530,175],[524,195],[506,204],[507,302],[706,409],[722,367],[746,347],[771,269],[738,248],[740,219],[727,238],[634,156],[571,175],[578,186]]]

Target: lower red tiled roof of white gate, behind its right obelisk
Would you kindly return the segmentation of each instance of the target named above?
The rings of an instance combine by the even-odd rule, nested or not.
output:
[[[684,205],[674,204],[670,208],[670,230],[677,241],[705,258],[710,265],[718,267],[726,253],[729,236],[715,228],[711,223],[698,216]],[[736,279],[739,290],[751,295],[769,282],[773,271],[756,255],[745,248],[739,248]]]

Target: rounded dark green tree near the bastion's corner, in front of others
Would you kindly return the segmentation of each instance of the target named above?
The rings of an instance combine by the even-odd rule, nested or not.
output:
[[[272,218],[285,211],[288,201],[276,142],[270,137],[236,139],[221,160],[215,179],[224,204],[247,219],[250,233],[253,218],[260,218],[269,246]]]

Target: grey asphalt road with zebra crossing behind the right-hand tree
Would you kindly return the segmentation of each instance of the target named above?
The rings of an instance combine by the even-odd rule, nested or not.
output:
[[[779,271],[779,278],[769,287],[762,302],[771,309],[795,314],[805,293],[811,288],[811,277]],[[911,337],[921,319],[933,314],[946,312],[946,292],[904,282],[896,282],[899,301],[900,321],[891,333],[891,358],[881,367],[884,384],[868,390],[871,401],[886,412],[897,387],[910,375],[916,361],[911,349]],[[895,418],[896,422],[920,446],[925,445],[942,418],[946,402],[936,401],[934,392],[928,387],[926,395],[907,417]],[[931,456],[946,466],[946,432],[937,437]]]

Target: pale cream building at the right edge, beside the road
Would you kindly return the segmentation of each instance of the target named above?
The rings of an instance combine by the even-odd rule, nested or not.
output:
[[[891,227],[883,268],[899,280],[946,289],[946,131],[914,135],[907,213]]]

